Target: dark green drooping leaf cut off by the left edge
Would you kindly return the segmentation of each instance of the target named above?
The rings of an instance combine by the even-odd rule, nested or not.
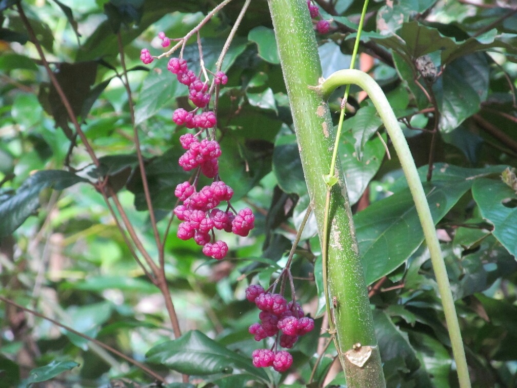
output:
[[[62,170],[37,171],[29,176],[16,193],[4,194],[0,202],[0,237],[14,232],[39,207],[41,190],[53,187],[63,190],[85,179]]]

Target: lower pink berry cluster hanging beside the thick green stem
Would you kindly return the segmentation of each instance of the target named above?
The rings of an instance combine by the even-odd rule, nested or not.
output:
[[[287,303],[282,295],[265,292],[262,286],[249,286],[246,289],[246,299],[255,303],[261,310],[258,315],[261,322],[253,323],[249,327],[249,332],[255,341],[276,337],[281,347],[291,349],[301,335],[314,329],[314,320],[304,316],[303,309],[298,303]],[[279,372],[284,372],[291,367],[293,357],[285,350],[276,351],[276,342],[273,346],[275,351],[269,349],[253,351],[254,366],[272,366]]]

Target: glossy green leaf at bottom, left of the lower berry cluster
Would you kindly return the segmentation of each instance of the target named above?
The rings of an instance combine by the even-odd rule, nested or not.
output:
[[[235,368],[269,382],[264,370],[255,368],[247,356],[226,349],[197,330],[163,342],[151,348],[145,356],[148,363],[165,365],[187,375],[231,373]]]

